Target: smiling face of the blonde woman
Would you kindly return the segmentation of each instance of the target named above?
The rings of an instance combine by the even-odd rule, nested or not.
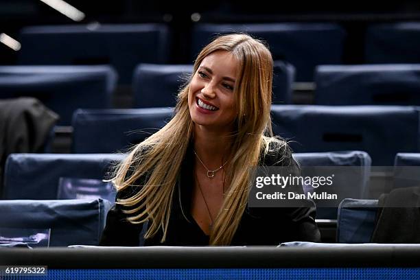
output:
[[[237,61],[229,51],[206,56],[191,80],[189,114],[195,124],[218,130],[233,130]]]

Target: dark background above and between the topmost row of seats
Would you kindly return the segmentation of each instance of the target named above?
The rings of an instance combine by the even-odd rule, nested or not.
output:
[[[67,0],[86,14],[80,23],[167,23],[174,32],[172,63],[190,64],[189,31],[198,22],[334,22],[348,32],[344,60],[362,63],[364,30],[369,23],[420,21],[420,1],[86,1]],[[0,0],[0,33],[19,40],[19,30],[29,25],[74,24],[39,0]],[[14,65],[16,51],[0,44],[0,65]]]

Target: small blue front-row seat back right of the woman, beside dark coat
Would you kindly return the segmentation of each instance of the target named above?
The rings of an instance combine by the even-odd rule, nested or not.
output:
[[[375,229],[376,211],[377,200],[342,200],[338,207],[337,242],[370,242]]]

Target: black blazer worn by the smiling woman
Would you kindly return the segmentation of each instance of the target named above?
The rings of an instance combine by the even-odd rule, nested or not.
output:
[[[290,166],[299,173],[299,165],[292,159],[287,148],[276,148],[268,153],[260,165]],[[191,215],[191,193],[194,153],[189,148],[181,167],[181,174],[172,198],[170,222],[165,242],[161,243],[162,231],[145,240],[143,224],[131,224],[126,220],[121,205],[108,212],[100,246],[206,246],[209,237],[200,229]],[[132,196],[137,189],[128,187],[117,193],[117,198]],[[315,223],[316,208],[308,201],[308,207],[246,208],[231,246],[279,245],[282,242],[319,242],[320,233]],[[145,226],[146,228],[146,226]]]

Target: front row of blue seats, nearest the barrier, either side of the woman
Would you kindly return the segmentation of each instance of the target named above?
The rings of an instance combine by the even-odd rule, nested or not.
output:
[[[0,248],[97,246],[110,207],[102,199],[0,200]],[[369,242],[376,207],[377,200],[343,200],[337,242]]]

